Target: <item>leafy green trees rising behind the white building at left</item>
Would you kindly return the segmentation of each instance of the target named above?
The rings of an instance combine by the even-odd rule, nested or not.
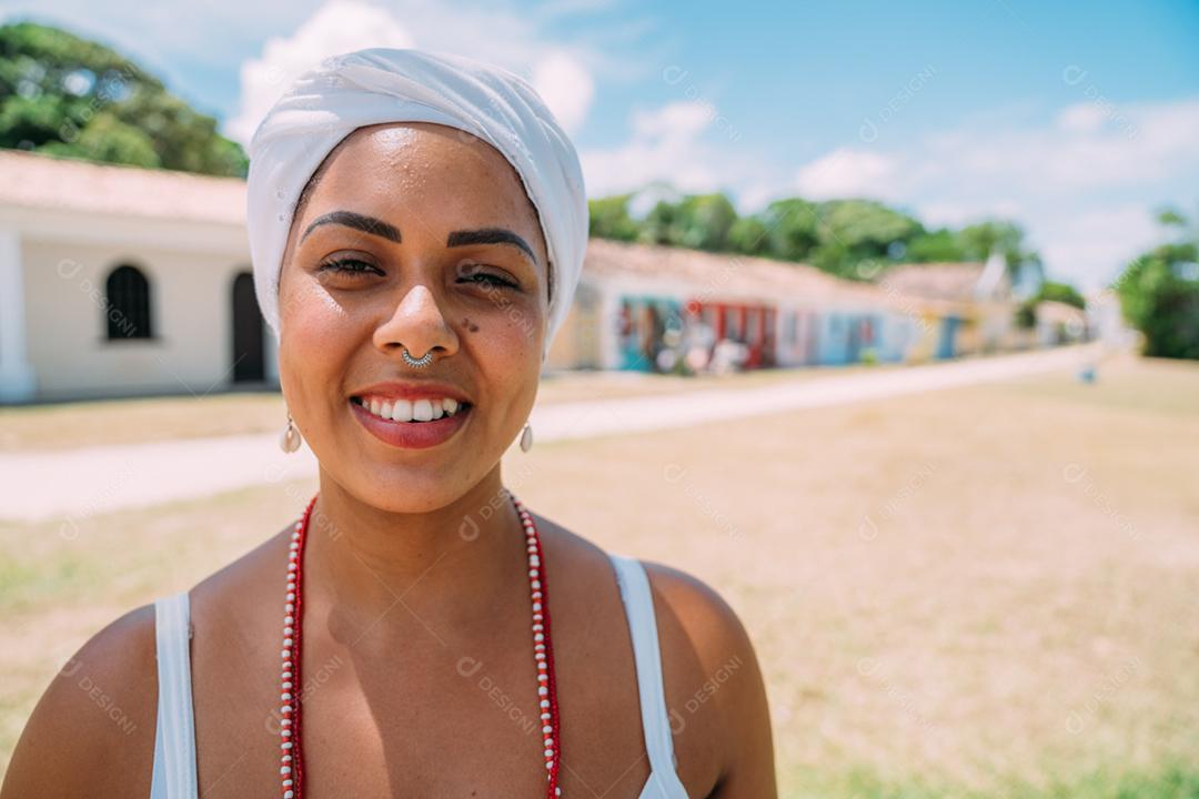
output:
[[[0,26],[0,147],[245,176],[217,121],[103,44],[35,23]]]

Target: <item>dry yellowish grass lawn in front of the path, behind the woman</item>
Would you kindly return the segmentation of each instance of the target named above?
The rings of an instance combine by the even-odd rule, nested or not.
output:
[[[531,508],[737,610],[782,797],[1199,797],[1199,364],[542,442],[505,470]],[[73,540],[0,526],[0,763],[89,635],[313,489],[96,516]]]

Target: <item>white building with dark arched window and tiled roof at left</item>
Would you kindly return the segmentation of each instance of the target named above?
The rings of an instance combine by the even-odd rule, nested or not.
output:
[[[239,178],[0,151],[0,401],[277,385]]]

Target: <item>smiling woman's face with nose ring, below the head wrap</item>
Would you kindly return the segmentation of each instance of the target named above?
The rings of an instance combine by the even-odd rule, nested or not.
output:
[[[415,122],[342,141],[279,277],[279,379],[323,471],[370,506],[421,513],[496,468],[536,399],[547,264],[536,211],[490,145]],[[433,359],[411,367],[402,347]],[[441,398],[459,400],[448,418]],[[442,418],[420,420],[430,411]]]

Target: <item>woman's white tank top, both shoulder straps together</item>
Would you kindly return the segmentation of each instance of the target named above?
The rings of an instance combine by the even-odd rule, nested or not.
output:
[[[687,799],[675,771],[674,745],[662,686],[662,656],[650,581],[640,561],[609,555],[625,604],[637,662],[641,732],[650,758],[650,779],[639,799]],[[187,592],[155,601],[158,652],[158,724],[153,743],[150,799],[198,799],[195,780],[195,719],[192,710],[192,671],[188,642],[191,606]]]

